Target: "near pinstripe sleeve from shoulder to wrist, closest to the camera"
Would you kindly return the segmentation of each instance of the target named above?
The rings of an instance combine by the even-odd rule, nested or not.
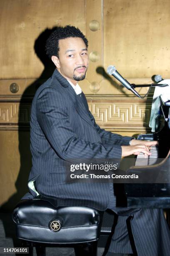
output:
[[[70,127],[68,108],[67,100],[55,89],[45,88],[37,97],[37,121],[48,142],[62,159],[121,158],[120,145],[90,143],[77,138]]]

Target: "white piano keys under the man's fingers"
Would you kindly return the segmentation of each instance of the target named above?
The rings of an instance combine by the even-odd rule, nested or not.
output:
[[[155,164],[158,159],[158,146],[152,146],[150,149],[152,155],[145,156],[142,152],[137,156],[135,166],[152,165]]]

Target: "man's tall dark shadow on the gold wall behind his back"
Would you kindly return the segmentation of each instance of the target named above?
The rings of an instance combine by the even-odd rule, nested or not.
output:
[[[23,197],[23,195],[25,195],[25,193],[28,192],[27,182],[32,162],[30,153],[30,128],[29,124],[26,122],[30,119],[30,116],[26,117],[26,122],[23,122],[23,118],[25,118],[24,106],[31,106],[32,98],[37,88],[52,75],[55,69],[54,64],[45,53],[45,42],[49,35],[52,33],[52,31],[54,31],[55,29],[56,27],[52,29],[45,29],[45,31],[43,31],[40,34],[40,36],[38,36],[34,44],[35,53],[37,54],[40,61],[42,61],[42,64],[44,65],[44,70],[42,71],[40,77],[26,88],[20,100],[18,119],[20,171],[15,182],[17,192],[14,195],[12,195],[9,198],[9,200],[0,207],[0,211],[13,210],[15,205],[20,201],[21,197]]]

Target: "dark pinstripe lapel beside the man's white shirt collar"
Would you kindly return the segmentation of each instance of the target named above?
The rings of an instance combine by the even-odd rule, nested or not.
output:
[[[76,109],[77,113],[80,115],[80,117],[83,118],[92,127],[94,127],[94,125],[90,119],[90,116],[87,113],[87,110],[85,109],[84,106],[82,106],[82,104],[77,99],[77,95],[76,95],[74,89],[72,88],[72,86],[67,81],[67,79],[62,77],[62,75],[57,71],[57,69],[55,69],[52,77],[53,77],[52,84],[54,85],[54,87],[56,87],[59,82],[61,85],[61,88],[62,88],[62,92],[64,94],[66,94],[72,100],[72,102],[75,105],[75,109]],[[83,94],[83,97],[85,97],[84,94]]]

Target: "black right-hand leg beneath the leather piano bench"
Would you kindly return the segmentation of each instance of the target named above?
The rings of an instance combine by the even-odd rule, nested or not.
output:
[[[75,256],[97,256],[97,241],[84,243],[75,247]]]

